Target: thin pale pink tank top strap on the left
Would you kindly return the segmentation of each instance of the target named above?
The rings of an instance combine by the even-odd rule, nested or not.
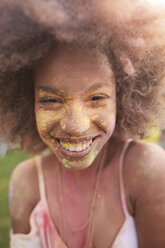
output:
[[[41,200],[46,201],[45,182],[44,182],[44,175],[43,175],[43,170],[42,170],[42,159],[41,159],[41,156],[35,156],[34,159],[35,159],[35,164],[37,167],[40,198]]]

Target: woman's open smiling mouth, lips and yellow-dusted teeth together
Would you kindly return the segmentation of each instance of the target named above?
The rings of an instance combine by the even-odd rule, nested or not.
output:
[[[97,138],[99,137],[95,136],[91,139],[85,139],[85,140],[64,140],[64,139],[59,139],[55,138],[57,141],[56,143],[59,146],[59,150],[65,154],[66,156],[69,157],[83,157],[86,156],[90,153],[92,150]],[[78,142],[79,141],[79,142]],[[80,142],[81,141],[81,142]]]

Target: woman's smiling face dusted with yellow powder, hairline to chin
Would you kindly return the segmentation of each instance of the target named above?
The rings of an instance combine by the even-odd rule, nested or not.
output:
[[[52,49],[35,71],[38,133],[66,168],[92,164],[116,120],[113,73],[87,50]]]

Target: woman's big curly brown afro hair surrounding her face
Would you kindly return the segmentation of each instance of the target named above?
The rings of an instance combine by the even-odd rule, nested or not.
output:
[[[163,111],[164,10],[151,0],[1,0],[1,138],[31,153],[45,149],[35,122],[33,71],[56,42],[107,58],[117,88],[114,134],[144,137]]]

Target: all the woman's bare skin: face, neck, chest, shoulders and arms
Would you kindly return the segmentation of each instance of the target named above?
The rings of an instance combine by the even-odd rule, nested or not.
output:
[[[98,163],[106,148],[95,205],[94,247],[111,247],[125,220],[118,177],[125,141],[113,135],[113,72],[109,67],[105,73],[97,56],[91,56],[89,51],[61,45],[52,48],[37,66],[34,82],[38,133],[52,150],[42,157],[42,164],[53,223],[59,230],[60,166],[67,218],[70,226],[81,226],[90,211]],[[135,218],[140,248],[165,247],[164,165],[165,154],[160,147],[140,142],[131,142],[123,161],[126,204]],[[29,216],[39,199],[36,166],[31,159],[20,164],[12,176],[10,208],[14,233],[30,231]],[[77,233],[69,226],[66,229],[69,247],[81,247],[87,228]]]

